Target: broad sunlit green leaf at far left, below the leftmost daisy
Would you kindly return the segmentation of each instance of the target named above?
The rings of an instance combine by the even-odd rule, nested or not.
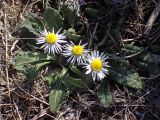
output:
[[[41,67],[55,58],[45,53],[20,52],[11,62],[13,67],[21,71],[27,79],[35,79]]]

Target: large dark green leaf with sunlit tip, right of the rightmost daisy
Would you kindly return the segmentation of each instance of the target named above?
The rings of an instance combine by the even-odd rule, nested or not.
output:
[[[109,72],[111,79],[122,85],[132,88],[143,88],[143,82],[139,74],[126,61],[112,61]]]

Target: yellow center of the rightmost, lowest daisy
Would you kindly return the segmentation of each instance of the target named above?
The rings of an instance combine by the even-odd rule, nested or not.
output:
[[[100,59],[94,59],[92,64],[91,64],[91,67],[92,67],[92,70],[94,71],[100,71],[102,70],[102,61]]]

